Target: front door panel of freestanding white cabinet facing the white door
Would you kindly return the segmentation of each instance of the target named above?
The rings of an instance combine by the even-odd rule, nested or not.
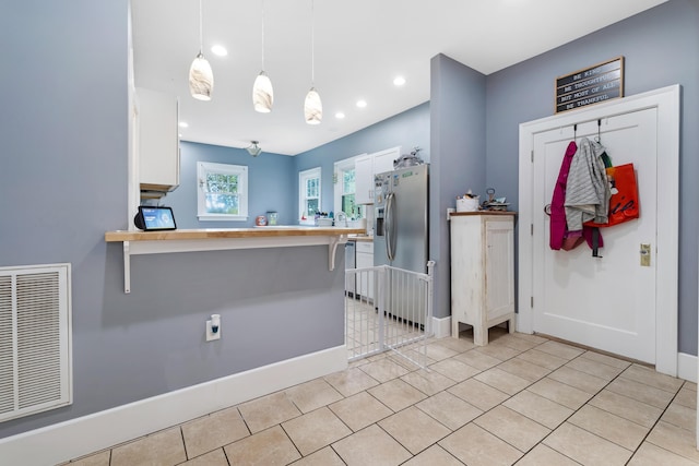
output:
[[[514,227],[510,218],[485,223],[487,319],[514,312]]]

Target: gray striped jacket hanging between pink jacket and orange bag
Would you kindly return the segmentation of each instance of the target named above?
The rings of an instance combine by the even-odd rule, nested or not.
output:
[[[582,224],[606,224],[609,210],[609,184],[602,159],[602,144],[582,138],[572,158],[566,187],[566,222],[569,231],[582,231]]]

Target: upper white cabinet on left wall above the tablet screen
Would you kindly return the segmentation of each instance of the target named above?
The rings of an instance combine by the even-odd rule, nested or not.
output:
[[[179,186],[177,97],[139,87],[137,99],[141,191],[173,191]]]

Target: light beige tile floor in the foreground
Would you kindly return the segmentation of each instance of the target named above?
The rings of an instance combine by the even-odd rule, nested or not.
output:
[[[540,336],[433,339],[72,466],[697,465],[697,385]]]

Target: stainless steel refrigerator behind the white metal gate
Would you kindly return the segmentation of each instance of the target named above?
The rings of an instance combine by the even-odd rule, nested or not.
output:
[[[415,165],[375,176],[374,265],[427,272],[428,175],[428,165]],[[405,276],[400,279],[394,277],[390,282],[387,288],[387,313],[423,325],[425,299],[422,294],[415,295],[418,284]]]

